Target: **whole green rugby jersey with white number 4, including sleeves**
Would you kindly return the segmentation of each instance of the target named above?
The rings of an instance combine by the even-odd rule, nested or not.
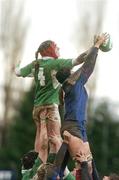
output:
[[[38,65],[37,68],[35,68]],[[59,89],[55,75],[62,68],[72,68],[72,59],[39,59],[20,69],[20,75],[34,76],[36,89],[34,105],[59,104]]]

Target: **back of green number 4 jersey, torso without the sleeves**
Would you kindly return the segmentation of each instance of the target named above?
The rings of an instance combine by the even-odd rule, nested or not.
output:
[[[55,77],[58,63],[54,59],[39,60],[35,71],[35,105],[59,104],[59,83]]]

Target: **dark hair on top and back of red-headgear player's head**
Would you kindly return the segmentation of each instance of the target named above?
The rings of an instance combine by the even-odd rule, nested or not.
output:
[[[47,50],[47,48],[50,47],[53,43],[54,41],[51,40],[42,42],[35,53],[35,58],[38,59],[38,53],[42,54],[42,52]]]

